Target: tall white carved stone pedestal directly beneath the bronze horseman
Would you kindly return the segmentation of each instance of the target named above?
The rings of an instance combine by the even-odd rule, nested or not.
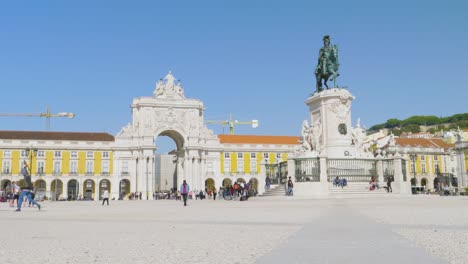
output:
[[[319,152],[329,158],[356,157],[351,135],[351,101],[348,90],[331,88],[307,98],[310,124],[320,123]]]

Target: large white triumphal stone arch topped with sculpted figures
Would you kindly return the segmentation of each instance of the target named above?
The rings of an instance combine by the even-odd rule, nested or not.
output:
[[[176,174],[171,175],[175,180],[170,183],[168,179],[167,189],[178,188],[184,179],[192,190],[203,189],[207,146],[219,146],[219,138],[205,125],[203,102],[186,98],[181,82],[169,72],[156,83],[152,96],[133,99],[131,111],[132,122],[115,137],[122,146],[134,149],[123,151],[117,158],[122,167],[125,161],[131,161],[131,191],[152,193],[158,187],[166,189],[170,176],[156,177],[155,139],[159,136],[170,137],[176,144]]]

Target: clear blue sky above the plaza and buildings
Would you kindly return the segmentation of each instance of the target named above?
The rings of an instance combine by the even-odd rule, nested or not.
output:
[[[226,3],[225,3],[226,2]],[[299,135],[322,37],[340,48],[353,121],[468,112],[466,1],[2,1],[1,113],[74,112],[53,131],[116,134],[172,70],[206,119]],[[0,117],[1,130],[44,130]],[[220,126],[210,126],[222,133]],[[227,132],[227,130],[225,131]]]

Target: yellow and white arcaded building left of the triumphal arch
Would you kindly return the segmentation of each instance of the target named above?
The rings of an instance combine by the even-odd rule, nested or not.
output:
[[[0,131],[2,195],[27,163],[39,199],[97,199],[115,184],[113,142],[107,133]]]

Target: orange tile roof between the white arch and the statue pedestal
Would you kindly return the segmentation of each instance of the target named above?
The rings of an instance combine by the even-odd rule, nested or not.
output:
[[[221,143],[231,144],[299,144],[299,137],[295,136],[218,135],[218,138]]]

